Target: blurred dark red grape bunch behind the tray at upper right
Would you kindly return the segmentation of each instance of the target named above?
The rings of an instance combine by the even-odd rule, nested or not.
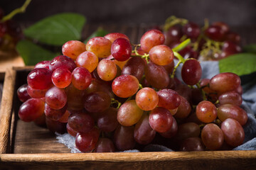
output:
[[[184,18],[171,16],[164,25],[164,35],[164,44],[169,47],[175,47],[184,38],[191,38],[193,43],[180,51],[184,58],[221,60],[242,52],[239,45],[240,35],[232,32],[228,24],[220,21],[209,26],[206,20],[205,26],[200,28]]]

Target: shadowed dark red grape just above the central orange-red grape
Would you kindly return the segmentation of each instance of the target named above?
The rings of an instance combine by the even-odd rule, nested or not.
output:
[[[138,80],[142,79],[144,74],[145,63],[142,57],[132,57],[122,68],[122,74],[129,74],[136,77]]]

